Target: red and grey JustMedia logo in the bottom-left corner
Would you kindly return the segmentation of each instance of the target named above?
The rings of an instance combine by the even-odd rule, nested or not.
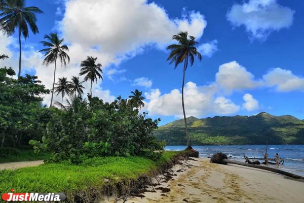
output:
[[[3,193],[4,201],[63,201],[66,196],[63,193]]]

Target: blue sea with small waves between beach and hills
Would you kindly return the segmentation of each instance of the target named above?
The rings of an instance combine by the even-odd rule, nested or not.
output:
[[[165,150],[180,151],[185,148],[186,146],[166,146]],[[200,152],[200,157],[210,157],[216,152],[222,152],[239,161],[245,161],[243,153],[248,157],[262,158],[265,152],[265,146],[263,145],[193,146],[193,148]],[[269,166],[304,176],[304,145],[269,145],[269,157],[274,158],[276,153],[284,158],[284,164]],[[263,160],[259,161],[262,162]]]

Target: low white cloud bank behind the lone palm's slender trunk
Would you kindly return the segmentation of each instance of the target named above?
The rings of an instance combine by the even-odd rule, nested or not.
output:
[[[188,82],[184,89],[186,116],[200,117],[208,113],[226,115],[239,111],[240,107],[230,99],[215,98],[216,92],[215,85],[197,86],[193,82]],[[149,114],[182,117],[181,93],[178,89],[163,95],[159,89],[154,89],[149,93],[146,92],[145,97],[148,100],[145,110]]]

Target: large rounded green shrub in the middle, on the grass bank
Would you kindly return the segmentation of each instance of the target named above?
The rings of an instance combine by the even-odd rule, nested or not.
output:
[[[36,151],[53,153],[53,161],[79,163],[82,156],[129,156],[164,147],[152,133],[159,120],[145,118],[127,99],[109,104],[89,96],[87,103],[74,96],[68,104],[47,124],[42,142],[30,141]]]

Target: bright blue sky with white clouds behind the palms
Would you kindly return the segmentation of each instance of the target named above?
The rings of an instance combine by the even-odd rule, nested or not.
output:
[[[166,60],[180,31],[196,37],[203,55],[186,71],[186,116],[293,115],[304,119],[304,2],[287,0],[27,0],[38,15],[39,33],[22,39],[22,74],[47,88],[53,64],[42,64],[44,35],[58,33],[71,58],[59,77],[78,76],[80,62],[98,57],[103,81],[93,96],[112,101],[139,89],[142,111],[161,125],[182,118],[182,65]],[[18,67],[17,36],[0,34],[0,66]],[[90,83],[85,84],[85,95]],[[44,103],[50,103],[45,95]],[[55,100],[61,100],[60,95]]]

